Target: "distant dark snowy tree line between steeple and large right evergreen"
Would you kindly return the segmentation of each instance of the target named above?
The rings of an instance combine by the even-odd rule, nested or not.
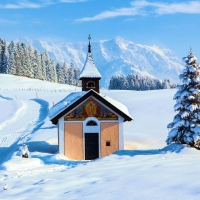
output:
[[[110,90],[157,90],[175,88],[176,84],[172,84],[169,79],[161,81],[148,76],[139,77],[136,74],[116,74],[110,78]]]

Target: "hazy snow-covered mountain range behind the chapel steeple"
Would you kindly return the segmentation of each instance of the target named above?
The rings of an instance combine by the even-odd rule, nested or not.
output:
[[[57,62],[74,63],[82,68],[87,53],[87,43],[59,43],[23,38],[20,40],[32,44],[39,51],[47,49],[50,57]],[[91,43],[92,55],[96,67],[102,74],[101,87],[108,87],[113,74],[127,75],[135,73],[178,82],[178,75],[183,69],[181,61],[169,49],[157,46],[135,44],[131,41],[116,37],[112,40],[100,40]]]

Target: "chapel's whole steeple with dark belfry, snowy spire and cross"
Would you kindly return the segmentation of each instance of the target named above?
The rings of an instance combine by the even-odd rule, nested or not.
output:
[[[91,36],[88,36],[89,44],[88,44],[88,53],[85,60],[85,64],[83,69],[79,75],[79,80],[82,80],[82,91],[95,90],[99,93],[99,80],[101,79],[101,74],[94,64],[94,60],[92,58],[92,51],[90,40]]]

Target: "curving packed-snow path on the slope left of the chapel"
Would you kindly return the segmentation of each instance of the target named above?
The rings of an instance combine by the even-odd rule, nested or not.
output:
[[[28,134],[40,128],[47,115],[46,101],[21,101],[21,107],[16,113],[7,121],[0,123],[0,164],[10,158],[17,144],[23,143]]]

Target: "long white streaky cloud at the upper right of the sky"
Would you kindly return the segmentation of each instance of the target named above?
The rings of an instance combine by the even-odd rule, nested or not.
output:
[[[179,3],[150,2],[146,0],[136,0],[130,3],[130,7],[118,8],[112,11],[104,11],[93,17],[84,17],[76,21],[96,21],[114,17],[150,15],[150,14],[200,14],[200,1],[188,1]]]

